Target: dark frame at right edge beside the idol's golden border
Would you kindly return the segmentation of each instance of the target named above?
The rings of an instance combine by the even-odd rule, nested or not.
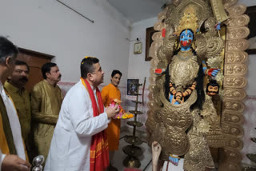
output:
[[[248,6],[246,14],[250,17],[250,22],[248,28],[250,29],[250,34],[248,36],[248,41],[250,42],[249,49],[246,50],[248,54],[256,54],[256,6]]]

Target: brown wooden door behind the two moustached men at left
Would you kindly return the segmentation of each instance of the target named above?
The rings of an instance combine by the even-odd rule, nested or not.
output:
[[[42,54],[32,50],[18,48],[18,60],[26,62],[30,66],[29,82],[26,83],[25,88],[29,91],[33,89],[34,85],[42,81],[41,68],[46,62],[50,62],[54,56],[50,54]]]

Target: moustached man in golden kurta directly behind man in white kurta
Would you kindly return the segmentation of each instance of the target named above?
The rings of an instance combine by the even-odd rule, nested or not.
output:
[[[46,161],[62,105],[62,91],[57,85],[62,74],[55,63],[48,62],[42,66],[42,76],[44,80],[34,85],[31,93],[31,109],[35,147]]]

